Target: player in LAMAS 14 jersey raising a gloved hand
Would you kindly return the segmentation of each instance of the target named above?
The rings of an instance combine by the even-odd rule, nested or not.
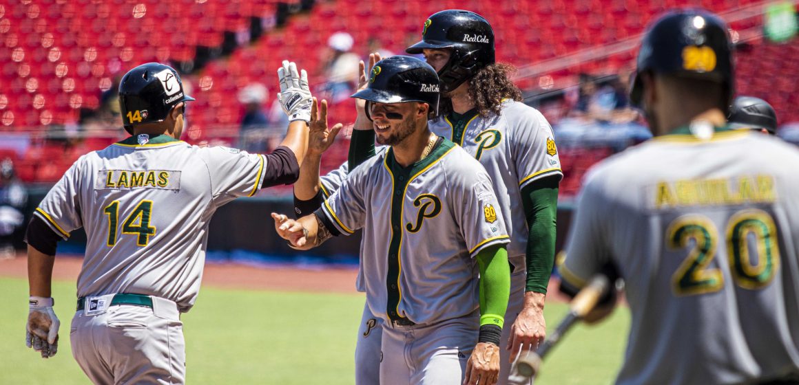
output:
[[[180,314],[200,288],[211,217],[260,188],[292,183],[316,124],[307,75],[284,61],[281,103],[292,116],[268,155],[179,140],[183,84],[174,69],[148,63],[119,86],[128,139],[81,156],[46,195],[26,239],[30,277],[27,345],[56,354],[59,320],[50,297],[57,242],[87,235],[70,340],[93,383],[184,383]],[[312,117],[313,116],[313,117]]]

